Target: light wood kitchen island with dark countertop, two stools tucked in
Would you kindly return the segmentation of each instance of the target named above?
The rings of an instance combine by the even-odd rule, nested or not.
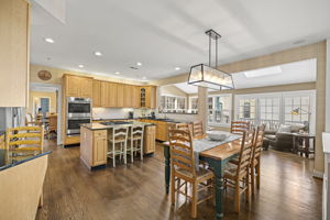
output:
[[[87,123],[80,127],[80,160],[91,169],[107,165],[108,131],[113,128],[144,127],[143,152],[155,152],[156,127],[153,123],[140,121],[118,121],[109,123]]]

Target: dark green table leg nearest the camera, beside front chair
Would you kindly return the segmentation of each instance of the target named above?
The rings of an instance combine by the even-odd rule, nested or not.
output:
[[[223,217],[223,162],[208,161],[209,165],[213,168],[216,180],[216,219]]]

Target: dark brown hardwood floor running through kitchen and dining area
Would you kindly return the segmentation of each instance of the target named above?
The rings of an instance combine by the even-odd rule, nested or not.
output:
[[[143,163],[89,172],[79,160],[79,146],[53,150],[44,184],[41,219],[190,219],[189,202],[173,208],[164,187],[163,150]],[[234,213],[233,191],[224,200],[224,220],[319,220],[322,182],[311,177],[312,160],[275,151],[263,152],[261,189],[251,204]],[[215,219],[212,202],[198,206],[198,219]]]

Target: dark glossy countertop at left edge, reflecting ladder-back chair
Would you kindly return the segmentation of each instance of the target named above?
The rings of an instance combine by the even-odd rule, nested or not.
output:
[[[51,153],[52,151],[0,150],[0,172]]]

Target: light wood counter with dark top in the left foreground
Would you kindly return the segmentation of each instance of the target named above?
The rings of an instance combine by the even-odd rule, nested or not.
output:
[[[35,219],[51,153],[0,150],[0,219]]]

